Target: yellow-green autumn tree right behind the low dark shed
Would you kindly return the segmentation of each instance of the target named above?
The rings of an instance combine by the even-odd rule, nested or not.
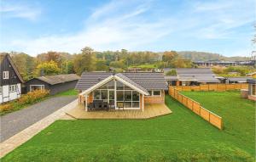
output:
[[[44,71],[44,75],[57,75],[61,72],[58,64],[54,61],[49,61],[46,63],[38,64],[36,69],[36,75],[41,75],[40,73]]]

